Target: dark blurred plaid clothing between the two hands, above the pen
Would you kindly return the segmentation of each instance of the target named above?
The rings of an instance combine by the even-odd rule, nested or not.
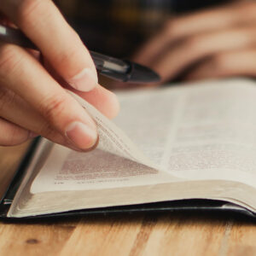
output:
[[[224,0],[55,0],[91,50],[131,56],[173,16],[224,4]]]

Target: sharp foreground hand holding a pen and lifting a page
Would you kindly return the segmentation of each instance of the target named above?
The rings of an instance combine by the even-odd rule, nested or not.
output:
[[[69,148],[93,148],[96,124],[63,85],[108,118],[119,104],[97,84],[78,34],[50,0],[0,0],[0,12],[0,23],[19,27],[44,56],[42,61],[38,52],[0,42],[0,145],[42,135]]]

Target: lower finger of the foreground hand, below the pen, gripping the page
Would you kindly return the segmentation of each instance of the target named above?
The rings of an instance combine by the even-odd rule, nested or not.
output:
[[[28,102],[77,148],[96,143],[96,125],[90,115],[24,49],[0,44],[0,84]]]

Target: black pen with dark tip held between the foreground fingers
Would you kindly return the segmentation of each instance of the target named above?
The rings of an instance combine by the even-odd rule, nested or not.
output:
[[[0,25],[0,40],[28,49],[38,49],[20,30]],[[148,67],[132,61],[123,61],[90,50],[92,60],[99,73],[110,79],[129,83],[156,83],[160,76]]]

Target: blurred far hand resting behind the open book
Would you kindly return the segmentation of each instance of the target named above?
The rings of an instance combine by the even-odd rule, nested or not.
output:
[[[134,61],[172,79],[256,77],[256,3],[230,3],[167,21]]]

